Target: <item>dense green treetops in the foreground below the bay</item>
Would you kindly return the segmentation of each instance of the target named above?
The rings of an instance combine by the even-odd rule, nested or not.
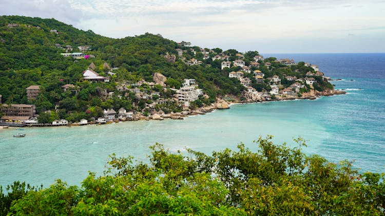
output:
[[[151,147],[149,163],[110,156],[103,175],[82,186],[15,182],[0,194],[1,215],[384,215],[384,175],[358,174],[352,163],[306,156],[259,138],[252,149],[211,156]]]

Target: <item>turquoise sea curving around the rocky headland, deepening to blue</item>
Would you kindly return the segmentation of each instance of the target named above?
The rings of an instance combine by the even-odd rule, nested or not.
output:
[[[0,184],[15,180],[48,187],[55,179],[80,185],[87,171],[102,174],[108,155],[147,160],[156,142],[171,151],[211,153],[274,135],[277,143],[307,140],[306,154],[332,162],[349,159],[360,171],[385,172],[385,54],[263,54],[317,64],[345,95],[316,100],[234,104],[184,120],[108,125],[0,129]]]

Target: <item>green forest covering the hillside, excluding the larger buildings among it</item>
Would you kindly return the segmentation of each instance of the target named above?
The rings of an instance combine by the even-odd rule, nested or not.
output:
[[[75,122],[102,116],[103,109],[121,107],[146,115],[154,111],[180,112],[183,107],[176,90],[186,78],[195,79],[202,89],[199,98],[189,104],[195,108],[218,98],[246,100],[248,86],[249,92],[259,91],[270,97],[268,91],[271,91],[274,75],[281,77],[279,88],[282,90],[295,82],[286,80],[285,76],[296,75],[302,79],[306,72],[314,72],[313,68],[304,66],[304,62],[287,66],[274,57],[257,62],[254,59],[259,55],[257,51],[242,54],[234,49],[222,51],[189,45],[149,33],[114,39],[91,30],[73,28],[55,19],[1,16],[0,95],[3,103],[36,105],[37,114],[56,110],[45,118],[46,122],[59,118]],[[80,46],[90,46],[90,49],[79,50]],[[65,57],[63,53],[81,53],[82,57]],[[224,58],[231,63],[221,68]],[[245,70],[233,63],[240,59],[248,70],[264,73],[264,80],[257,82],[254,72],[242,75],[246,83],[230,78],[229,72]],[[110,81],[85,81],[83,72],[91,65],[95,73]],[[167,78],[163,87],[149,85],[156,73]],[[314,78],[317,79],[313,84],[315,90],[333,89],[323,78]],[[71,84],[72,91],[65,91],[65,84]],[[28,100],[26,94],[30,85],[40,85],[40,93],[33,100]],[[136,88],[139,90],[134,90]],[[301,93],[310,89],[303,84]],[[292,95],[297,96],[297,93]]]

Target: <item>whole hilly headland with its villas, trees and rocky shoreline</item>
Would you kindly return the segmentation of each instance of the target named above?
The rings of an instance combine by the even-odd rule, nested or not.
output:
[[[343,94],[318,66],[161,35],[114,39],[55,19],[0,16],[0,115],[10,126],[164,118],[231,103]]]

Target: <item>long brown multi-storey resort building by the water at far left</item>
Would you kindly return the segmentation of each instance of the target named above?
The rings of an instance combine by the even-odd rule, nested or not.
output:
[[[8,104],[3,103],[0,110],[4,114],[2,119],[5,120],[28,120],[32,118],[36,112],[35,105],[32,104],[11,104],[11,106],[8,107]]]

